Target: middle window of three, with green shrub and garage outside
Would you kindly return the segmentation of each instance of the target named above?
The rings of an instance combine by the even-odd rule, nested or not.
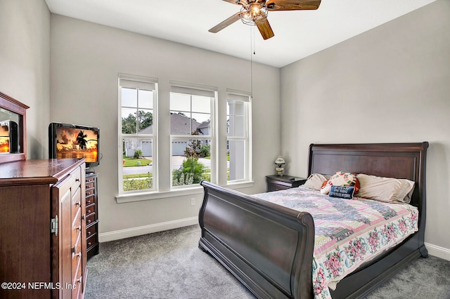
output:
[[[172,187],[214,178],[214,101],[208,86],[171,82],[170,140]]]

